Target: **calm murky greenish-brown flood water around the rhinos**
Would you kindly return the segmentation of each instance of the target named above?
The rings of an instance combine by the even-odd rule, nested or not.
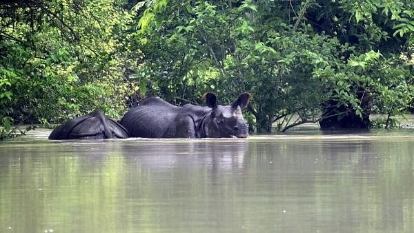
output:
[[[0,232],[413,232],[414,130],[0,143]]]

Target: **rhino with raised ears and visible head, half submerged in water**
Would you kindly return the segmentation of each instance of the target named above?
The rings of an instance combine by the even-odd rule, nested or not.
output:
[[[230,105],[217,105],[212,92],[204,94],[207,106],[186,104],[177,107],[157,97],[144,99],[121,119],[130,137],[144,138],[221,138],[248,136],[242,109],[250,99],[240,94]]]

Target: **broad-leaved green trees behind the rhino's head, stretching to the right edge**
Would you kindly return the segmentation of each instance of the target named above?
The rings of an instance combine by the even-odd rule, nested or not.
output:
[[[411,58],[402,59],[410,48],[397,37],[410,28],[397,23],[411,23],[411,3],[146,3],[134,34],[144,60],[134,78],[169,101],[199,102],[208,90],[228,101],[249,91],[259,130],[331,117],[321,116],[330,100],[360,117],[366,106],[397,114],[411,104]]]

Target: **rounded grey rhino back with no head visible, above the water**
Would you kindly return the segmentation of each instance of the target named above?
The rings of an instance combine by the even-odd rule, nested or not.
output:
[[[112,119],[95,110],[59,125],[49,135],[52,140],[65,139],[126,139],[128,131]]]

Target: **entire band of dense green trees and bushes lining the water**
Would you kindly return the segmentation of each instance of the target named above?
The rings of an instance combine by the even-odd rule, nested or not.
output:
[[[157,95],[253,94],[259,131],[366,128],[413,103],[410,0],[25,0],[0,8],[0,134]]]

